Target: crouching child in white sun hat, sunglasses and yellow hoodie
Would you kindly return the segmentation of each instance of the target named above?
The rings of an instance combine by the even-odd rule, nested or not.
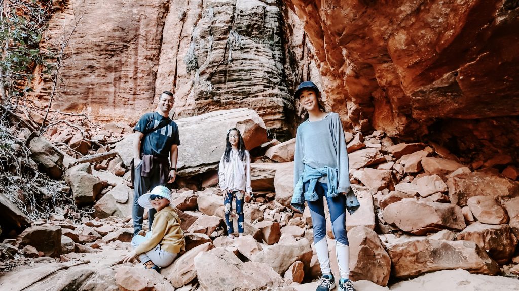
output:
[[[166,186],[156,186],[149,194],[139,198],[139,205],[143,208],[154,208],[155,219],[152,229],[146,237],[136,235],[131,240],[133,251],[122,259],[123,263],[139,255],[141,263],[146,269],[167,267],[180,251],[185,250],[184,234],[180,228],[180,218],[171,203],[171,192]]]

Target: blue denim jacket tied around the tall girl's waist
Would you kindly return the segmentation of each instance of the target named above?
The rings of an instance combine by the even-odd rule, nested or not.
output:
[[[301,174],[301,177],[294,187],[294,195],[292,195],[292,202],[290,202],[290,205],[299,212],[303,213],[303,210],[305,209],[305,201],[316,201],[318,199],[316,194],[316,184],[317,180],[323,176],[327,176],[328,178],[328,192],[326,193],[326,197],[332,198],[337,196],[339,194],[337,191],[337,172],[337,168],[328,166],[314,169],[308,165],[305,165],[303,174]],[[308,189],[305,193],[303,193],[303,185],[308,181],[310,181]]]

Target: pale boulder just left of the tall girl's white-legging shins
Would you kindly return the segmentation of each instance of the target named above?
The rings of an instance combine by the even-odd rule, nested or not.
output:
[[[302,238],[292,243],[277,243],[263,249],[254,257],[254,261],[268,264],[278,274],[284,274],[295,261],[302,261],[306,266],[310,265],[312,249],[310,242]]]

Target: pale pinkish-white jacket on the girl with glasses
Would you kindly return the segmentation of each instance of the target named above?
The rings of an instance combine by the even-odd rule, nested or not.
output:
[[[229,162],[224,155],[218,167],[218,181],[222,190],[240,190],[252,193],[251,187],[251,155],[245,151],[245,161],[241,161],[238,151],[231,150]]]

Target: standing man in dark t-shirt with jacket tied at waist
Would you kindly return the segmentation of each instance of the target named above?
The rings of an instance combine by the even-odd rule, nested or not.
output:
[[[159,96],[157,111],[144,114],[133,128],[133,235],[142,230],[144,209],[137,202],[141,195],[157,185],[172,183],[176,178],[176,162],[180,146],[179,127],[169,118],[174,96],[164,91]],[[148,210],[148,229],[155,209]]]

